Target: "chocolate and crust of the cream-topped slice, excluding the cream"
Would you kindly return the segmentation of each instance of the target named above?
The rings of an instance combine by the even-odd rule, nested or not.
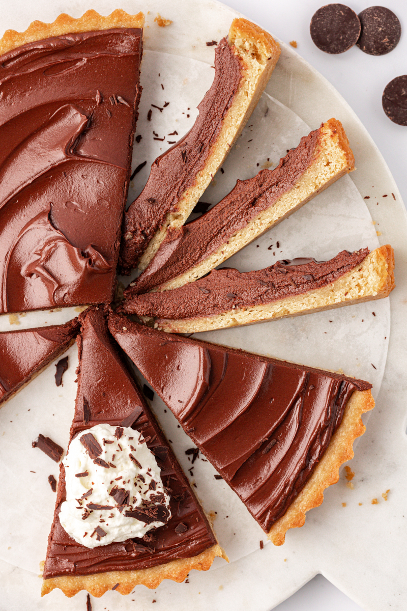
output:
[[[171,489],[171,518],[152,537],[88,549],[76,543],[59,522],[60,505],[65,500],[65,470],[61,465],[42,594],[54,588],[60,588],[67,596],[79,590],[87,590],[93,596],[112,589],[128,594],[138,584],[156,588],[163,579],[181,582],[191,569],[209,569],[215,556],[224,556],[223,551],[109,335],[103,310],[87,310],[81,315],[81,322],[81,335],[77,337],[78,388],[70,441],[98,423],[131,426],[142,432],[156,455],[164,485]],[[177,528],[181,523],[182,528]]]

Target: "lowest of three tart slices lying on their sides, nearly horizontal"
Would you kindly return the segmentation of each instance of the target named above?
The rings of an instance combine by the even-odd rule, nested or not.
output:
[[[245,273],[214,269],[170,291],[132,296],[130,288],[120,310],[162,331],[196,333],[381,299],[394,287],[394,252],[387,245],[342,251],[329,261],[282,260]]]

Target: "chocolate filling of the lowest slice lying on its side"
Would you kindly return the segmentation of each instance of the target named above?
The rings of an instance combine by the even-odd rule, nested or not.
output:
[[[329,261],[283,259],[268,268],[245,273],[233,268],[214,269],[183,287],[145,295],[132,295],[130,287],[121,309],[139,316],[177,320],[264,305],[325,287],[354,269],[368,254],[369,249],[364,248],[342,251]]]

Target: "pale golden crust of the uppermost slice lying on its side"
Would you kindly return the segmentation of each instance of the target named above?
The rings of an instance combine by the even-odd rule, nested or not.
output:
[[[156,232],[153,239],[145,244],[145,252],[139,260],[133,260],[130,247],[133,237],[132,206],[137,205],[137,200],[129,208],[124,221],[124,240],[121,251],[122,267],[127,273],[131,266],[145,269],[164,240],[168,227],[176,229],[185,223],[245,126],[275,68],[280,54],[278,43],[270,34],[250,21],[235,19],[229,29],[228,40],[229,46],[242,63],[243,75],[234,100],[223,119],[222,129],[211,147],[204,168],[196,174],[195,184],[185,189],[176,204],[176,210],[167,214],[162,227]]]

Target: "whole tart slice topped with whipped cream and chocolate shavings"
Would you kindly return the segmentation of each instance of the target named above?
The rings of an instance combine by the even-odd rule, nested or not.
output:
[[[67,596],[73,596],[79,590],[87,590],[93,596],[101,596],[112,589],[128,594],[137,584],[156,588],[163,579],[181,582],[193,568],[208,569],[215,556],[223,555],[222,549],[164,434],[118,353],[118,346],[109,335],[103,310],[90,309],[81,315],[81,321],[82,331],[77,337],[78,389],[67,453],[67,459],[73,462],[66,463],[65,459],[60,467],[42,594],[54,588],[60,588]],[[92,433],[98,426],[106,430],[110,427],[113,431],[109,439],[104,434],[100,444],[95,439],[96,433]],[[126,431],[132,433],[127,442]],[[88,463],[85,466],[76,457],[78,443],[75,437],[79,437],[79,447],[87,450]],[[133,450],[130,458],[135,467],[142,467],[140,444],[145,444],[147,452],[155,456],[155,468],[160,475],[154,481],[148,480],[150,468],[139,472],[136,478],[125,477],[122,455],[123,451],[124,458],[128,455],[126,443],[132,444],[129,445]],[[74,470],[73,473],[67,472],[66,464],[71,471]],[[93,472],[93,469],[99,471]],[[99,490],[100,469],[107,481],[106,499]],[[157,483],[158,479],[160,483]],[[143,500],[134,508],[135,497],[129,494],[129,490],[134,485],[139,494],[145,480],[149,481],[149,501]],[[72,481],[74,486],[79,481],[84,487],[85,492],[79,498],[71,498]],[[155,495],[154,499],[151,494]],[[165,495],[169,497],[166,508],[162,504]],[[103,500],[108,502],[103,503]],[[159,503],[156,507],[153,500]],[[79,529],[79,534],[73,535],[76,538],[68,535],[60,522],[60,516],[63,516],[65,525],[69,522],[66,501],[68,504],[73,501],[74,509],[81,514],[75,521],[76,531]],[[95,525],[97,512],[100,519],[96,519]],[[135,516],[139,517],[142,526],[152,520],[165,524],[145,535],[124,536],[124,540],[103,544],[105,536],[109,540],[109,527],[115,528],[114,520],[132,521]],[[84,543],[78,543],[78,538]],[[95,547],[88,547],[92,544]]]

